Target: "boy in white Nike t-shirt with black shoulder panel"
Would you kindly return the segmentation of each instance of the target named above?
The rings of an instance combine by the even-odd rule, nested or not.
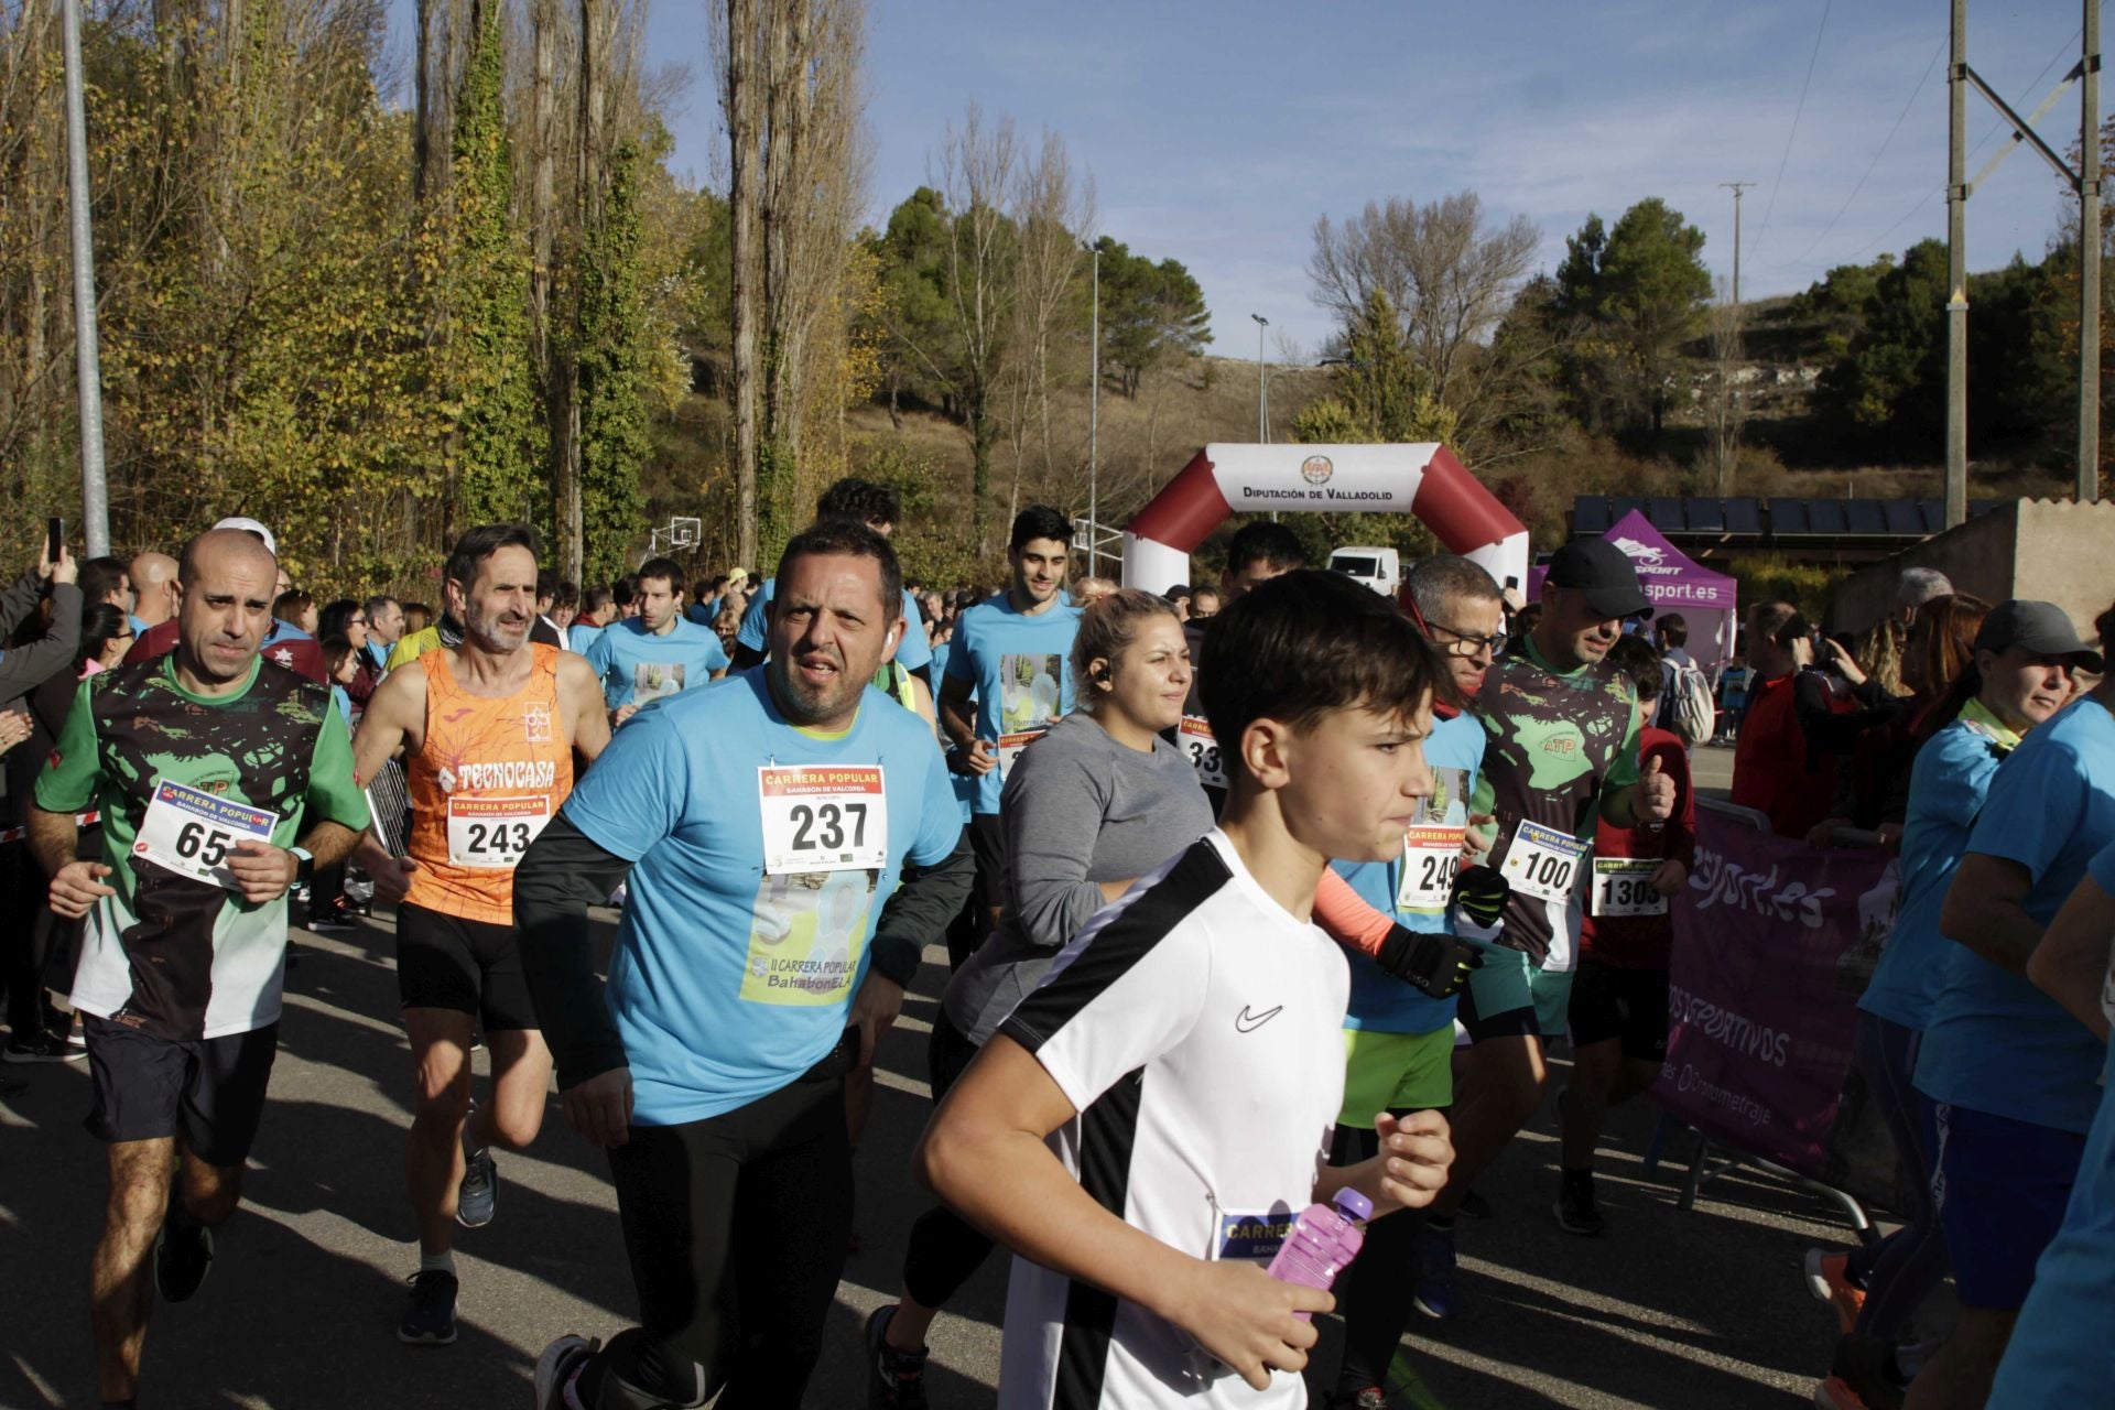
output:
[[[1377,1112],[1387,1154],[1324,1165],[1349,977],[1307,920],[1328,858],[1400,854],[1430,797],[1436,662],[1328,573],[1248,594],[1206,653],[1206,710],[1237,742],[1222,827],[1064,949],[916,1156],[1017,1254],[1005,1408],[1305,1404],[1296,1313],[1332,1300],[1256,1262],[1309,1201],[1354,1186],[1385,1213],[1445,1180],[1430,1112]]]

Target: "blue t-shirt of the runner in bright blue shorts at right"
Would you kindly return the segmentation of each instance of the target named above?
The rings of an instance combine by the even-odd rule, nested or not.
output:
[[[2033,886],[2020,905],[2049,924],[2111,841],[2115,717],[2096,700],[2079,700],[1999,765],[1969,852],[2026,867]],[[2026,975],[1956,945],[1916,1055],[1916,1091],[2083,1135],[2100,1108],[2096,1078],[2104,1059],[2085,1025]]]

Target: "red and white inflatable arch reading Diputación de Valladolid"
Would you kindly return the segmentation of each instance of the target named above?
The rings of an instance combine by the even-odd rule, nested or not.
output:
[[[1527,528],[1438,442],[1197,452],[1123,531],[1123,586],[1167,592],[1229,514],[1415,514],[1449,552],[1527,590]]]

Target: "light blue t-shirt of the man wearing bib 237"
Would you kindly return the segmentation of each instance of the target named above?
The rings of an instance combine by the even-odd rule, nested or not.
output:
[[[766,875],[764,765],[878,767],[886,867]],[[806,818],[819,846],[852,839],[842,814],[816,812],[831,814]],[[819,1063],[844,1034],[905,858],[931,867],[962,835],[922,719],[869,687],[844,738],[816,738],[787,723],[761,670],[637,715],[565,816],[635,862],[607,998],[632,1120],[647,1127],[730,1112]]]

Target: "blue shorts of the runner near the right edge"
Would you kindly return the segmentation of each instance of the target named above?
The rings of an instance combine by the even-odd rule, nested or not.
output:
[[[1961,1304],[2018,1313],[2035,1262],[2056,1239],[2085,1137],[1973,1112],[1918,1093],[1931,1142],[1931,1203],[1954,1262]]]

